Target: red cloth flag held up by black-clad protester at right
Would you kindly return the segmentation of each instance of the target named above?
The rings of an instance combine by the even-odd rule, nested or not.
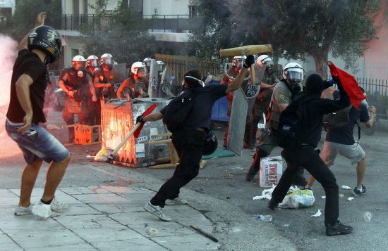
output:
[[[344,70],[337,68],[331,61],[327,61],[327,65],[329,65],[332,76],[339,77],[342,86],[344,86],[344,89],[351,100],[351,104],[358,109],[358,105],[360,105],[361,101],[363,101],[366,96],[358,86],[356,79],[347,72],[344,72]]]

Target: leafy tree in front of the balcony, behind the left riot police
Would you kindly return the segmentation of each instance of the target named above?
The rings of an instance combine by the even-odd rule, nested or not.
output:
[[[127,1],[122,1],[113,13],[107,13],[107,0],[98,0],[92,6],[95,18],[80,27],[83,55],[110,53],[119,63],[134,63],[154,57],[155,39],[147,33],[150,20],[133,11]],[[101,25],[101,20],[109,25]]]

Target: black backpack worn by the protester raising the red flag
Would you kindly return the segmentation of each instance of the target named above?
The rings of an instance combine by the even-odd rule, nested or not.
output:
[[[307,129],[305,104],[315,98],[317,97],[301,96],[281,112],[277,126],[278,146],[285,149],[296,148],[302,143],[302,135],[314,129]]]

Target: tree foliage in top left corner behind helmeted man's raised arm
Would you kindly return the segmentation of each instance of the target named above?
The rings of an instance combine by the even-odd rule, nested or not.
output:
[[[45,11],[47,18],[45,25],[56,27],[61,22],[61,0],[18,0],[16,1],[13,17],[7,17],[0,22],[0,33],[20,41],[25,34],[32,30],[38,13]],[[58,28],[58,27],[56,27]]]

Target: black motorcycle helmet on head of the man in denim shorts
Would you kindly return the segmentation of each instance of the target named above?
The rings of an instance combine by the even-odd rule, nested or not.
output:
[[[61,36],[50,26],[41,25],[28,35],[28,49],[40,49],[47,55],[44,63],[54,63],[61,56]],[[47,62],[46,62],[47,61]]]

